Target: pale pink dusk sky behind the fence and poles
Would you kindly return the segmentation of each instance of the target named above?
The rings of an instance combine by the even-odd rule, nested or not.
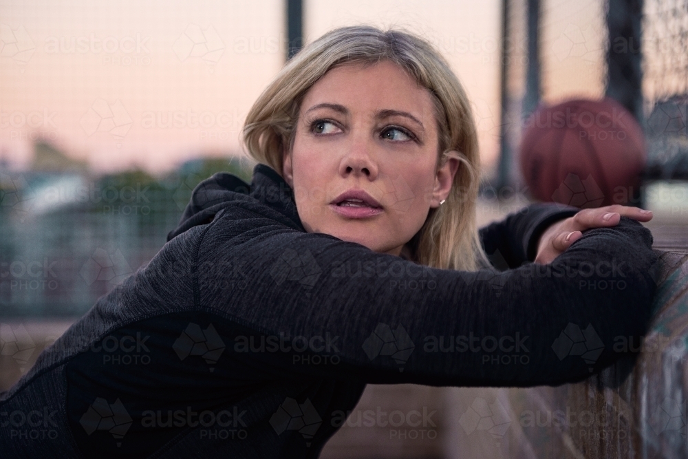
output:
[[[601,1],[544,2],[543,54],[553,63],[546,98],[600,92],[591,18]],[[96,171],[163,173],[202,154],[239,153],[246,112],[284,62],[283,3],[0,0],[2,158],[26,164],[39,131]],[[499,132],[499,5],[306,0],[305,36],[370,23],[435,43],[473,102],[489,169]]]

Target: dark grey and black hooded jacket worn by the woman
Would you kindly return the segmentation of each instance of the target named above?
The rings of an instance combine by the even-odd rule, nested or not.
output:
[[[656,255],[622,217],[533,264],[576,211],[482,228],[509,269],[467,273],[306,233],[269,167],[250,185],[216,174],[160,253],[0,396],[2,456],[315,458],[366,383],[579,381],[645,332]]]

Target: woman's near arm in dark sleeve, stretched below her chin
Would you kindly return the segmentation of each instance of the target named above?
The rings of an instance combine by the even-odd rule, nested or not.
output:
[[[241,206],[211,224],[197,262],[240,266],[249,287],[196,288],[196,308],[226,314],[213,323],[228,359],[258,380],[555,385],[609,365],[614,339],[647,326],[656,255],[627,217],[585,231],[552,264],[495,275],[418,266]],[[199,285],[222,285],[206,271]],[[251,350],[271,339],[284,345]]]

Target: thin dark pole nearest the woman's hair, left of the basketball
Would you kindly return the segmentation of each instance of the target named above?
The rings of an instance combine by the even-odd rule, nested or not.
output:
[[[502,50],[501,50],[501,72],[499,81],[499,104],[501,105],[502,112],[499,115],[499,165],[497,166],[497,187],[501,189],[508,185],[509,182],[509,171],[511,169],[511,151],[509,148],[509,142],[507,136],[508,131],[508,87],[506,84],[509,67],[508,62],[510,59],[510,30],[509,30],[509,1],[502,0]]]

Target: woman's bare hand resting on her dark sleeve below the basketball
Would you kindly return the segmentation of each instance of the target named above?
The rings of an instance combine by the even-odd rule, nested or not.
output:
[[[599,209],[583,209],[572,217],[556,222],[542,233],[537,244],[535,263],[551,263],[571,244],[583,237],[582,231],[616,226],[621,220],[621,215],[640,222],[652,220],[652,211],[644,211],[632,206],[621,206],[620,204],[600,207]]]

